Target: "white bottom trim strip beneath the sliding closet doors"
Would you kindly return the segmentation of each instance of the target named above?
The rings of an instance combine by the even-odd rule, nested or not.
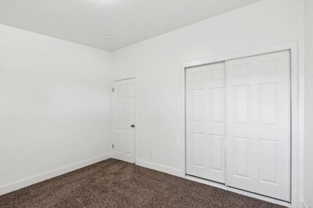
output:
[[[247,191],[240,190],[240,189],[237,189],[237,188],[226,187],[226,186],[224,186],[224,184],[220,184],[220,183],[216,183],[216,182],[212,182],[212,181],[208,181],[208,180],[204,180],[204,179],[201,179],[201,178],[188,176],[188,175],[186,175],[184,178],[188,179],[188,180],[191,180],[191,181],[195,181],[195,182],[201,183],[201,184],[206,184],[206,185],[209,185],[209,186],[212,186],[212,187],[218,187],[218,188],[221,188],[221,189],[224,189],[224,190],[228,190],[228,191],[231,191],[231,192],[239,193],[239,194],[242,194],[242,195],[245,195],[245,196],[249,196],[249,197],[252,197],[252,198],[255,198],[255,199],[260,199],[260,200],[263,200],[263,201],[266,201],[266,202],[270,202],[270,203],[273,203],[273,204],[282,205],[282,206],[291,208],[291,204],[290,203],[283,202],[283,201],[280,201],[280,200],[277,200],[277,199],[273,199],[273,198],[269,198],[269,197],[266,197],[266,196],[262,196],[262,195],[259,195],[259,194],[247,192]]]

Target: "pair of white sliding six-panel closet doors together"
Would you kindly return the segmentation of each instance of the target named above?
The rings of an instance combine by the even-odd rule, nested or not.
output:
[[[290,51],[185,73],[186,174],[290,202]]]

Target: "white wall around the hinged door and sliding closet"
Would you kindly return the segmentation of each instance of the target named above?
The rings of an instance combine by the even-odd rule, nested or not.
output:
[[[181,172],[181,62],[299,39],[303,71],[303,18],[302,0],[262,0],[114,51],[113,80],[136,77],[136,163]]]

